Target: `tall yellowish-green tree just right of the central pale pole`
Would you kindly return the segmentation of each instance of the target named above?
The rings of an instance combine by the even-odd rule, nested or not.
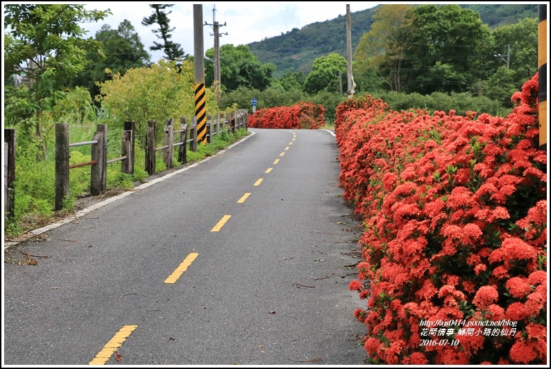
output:
[[[405,15],[411,9],[409,5],[389,4],[375,10],[371,29],[359,39],[354,53],[360,76],[372,80],[373,71],[389,89],[402,91],[407,79],[403,64],[409,48]]]

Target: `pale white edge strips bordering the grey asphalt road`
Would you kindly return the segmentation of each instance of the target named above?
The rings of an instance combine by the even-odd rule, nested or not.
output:
[[[330,134],[332,134],[334,136],[334,133],[332,131],[330,131],[329,129],[324,129],[325,131],[329,132]],[[37,229],[34,229],[33,231],[28,231],[28,234],[30,237],[33,237],[33,236],[36,236],[36,235],[41,235],[42,233],[45,233],[45,232],[48,232],[48,231],[51,231],[52,229],[54,228],[58,228],[59,226],[62,226],[63,224],[67,224],[67,223],[70,223],[70,222],[73,222],[74,220],[80,218],[80,217],[83,217],[84,215],[87,215],[87,213],[90,213],[92,210],[96,210],[97,208],[101,208],[102,206],[105,206],[107,204],[110,204],[112,203],[113,201],[117,201],[118,199],[122,199],[123,197],[126,197],[128,195],[130,195],[131,193],[137,191],[137,190],[143,190],[144,188],[148,188],[149,186],[153,186],[155,183],[158,183],[160,181],[164,181],[164,179],[169,179],[170,177],[172,176],[175,176],[176,174],[180,174],[181,172],[185,172],[186,170],[188,169],[191,169],[191,168],[194,168],[195,166],[201,164],[201,163],[204,163],[205,161],[208,161],[210,160],[212,157],[214,156],[217,156],[217,155],[220,155],[220,154],[223,154],[224,152],[226,152],[227,150],[230,150],[232,147],[234,147],[235,145],[239,145],[239,143],[245,141],[247,138],[249,137],[252,137],[255,135],[255,132],[252,132],[252,131],[249,131],[250,134],[248,134],[247,136],[244,136],[243,138],[241,138],[241,140],[235,142],[235,143],[232,143],[231,145],[228,146],[228,148],[224,149],[224,150],[220,150],[219,152],[217,152],[216,154],[212,155],[212,156],[207,156],[205,159],[201,160],[201,161],[198,161],[196,163],[193,163],[192,165],[188,165],[187,167],[185,168],[181,168],[181,169],[178,169],[178,170],[175,170],[174,172],[170,172],[168,174],[164,174],[162,175],[161,177],[158,177],[158,178],[155,178],[155,179],[152,179],[151,181],[148,181],[146,183],[142,183],[141,185],[133,188],[132,190],[128,190],[126,192],[123,192],[119,195],[116,195],[116,196],[113,196],[113,197],[109,197],[108,199],[105,199],[97,204],[94,204],[88,208],[84,208],[83,210],[79,210],[77,213],[75,213],[75,215],[72,215],[71,217],[67,217],[65,219],[62,219],[58,222],[55,222],[55,223],[52,223],[52,224],[48,224],[47,226],[43,226],[41,228],[37,228]],[[28,239],[26,239],[28,240]],[[12,246],[15,246],[17,244],[20,244],[21,242],[25,242],[26,240],[19,240],[19,241],[12,241],[12,242],[6,242],[4,243],[4,250],[12,247]]]

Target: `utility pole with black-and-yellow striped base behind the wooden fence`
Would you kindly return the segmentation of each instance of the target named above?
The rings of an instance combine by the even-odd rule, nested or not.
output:
[[[205,54],[203,52],[203,4],[193,5],[195,116],[197,143],[207,144],[207,100],[205,98]]]

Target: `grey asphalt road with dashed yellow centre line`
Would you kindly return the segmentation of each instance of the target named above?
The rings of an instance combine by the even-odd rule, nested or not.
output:
[[[4,365],[363,365],[334,136],[250,130],[5,251]]]

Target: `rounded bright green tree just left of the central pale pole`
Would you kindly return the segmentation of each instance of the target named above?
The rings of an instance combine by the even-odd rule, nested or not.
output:
[[[335,92],[340,91],[340,81],[345,76],[348,62],[344,56],[337,53],[330,53],[327,56],[319,57],[312,64],[312,71],[308,73],[304,81],[304,90],[307,93],[319,91]],[[341,80],[339,80],[341,73]]]

